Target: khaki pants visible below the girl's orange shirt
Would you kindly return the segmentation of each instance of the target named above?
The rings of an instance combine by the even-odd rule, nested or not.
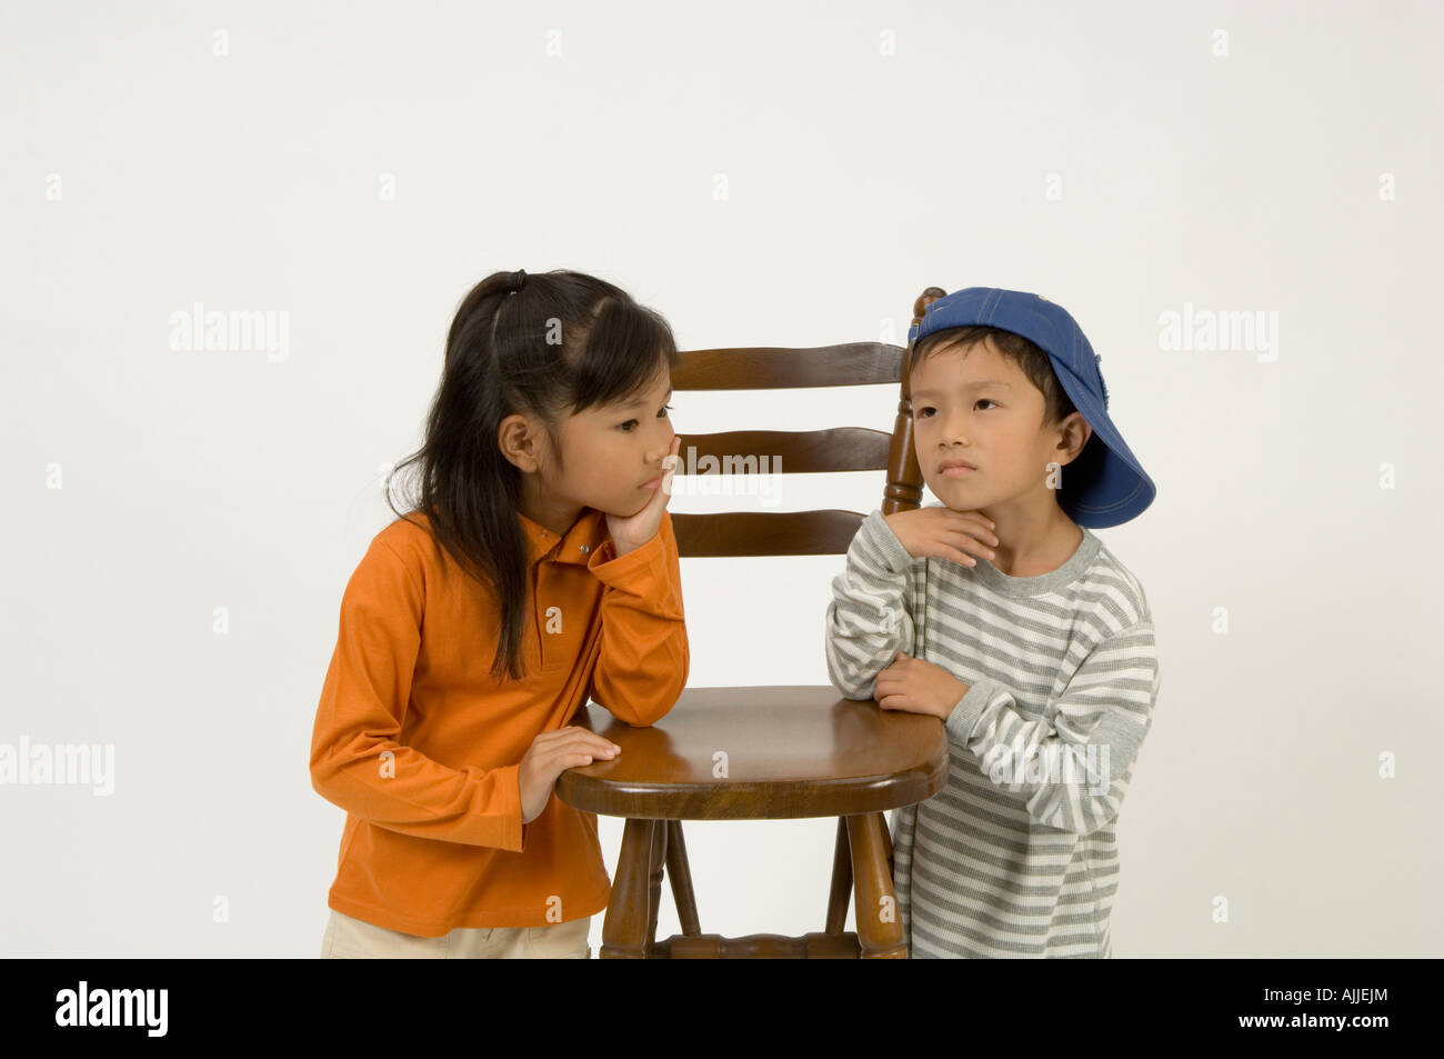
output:
[[[592,917],[549,926],[458,926],[440,938],[419,938],[365,923],[331,909],[321,939],[322,959],[591,959]]]

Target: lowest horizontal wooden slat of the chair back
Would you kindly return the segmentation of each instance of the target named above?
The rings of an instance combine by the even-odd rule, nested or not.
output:
[[[846,555],[865,516],[822,511],[719,511],[671,516],[684,559],[758,555]]]

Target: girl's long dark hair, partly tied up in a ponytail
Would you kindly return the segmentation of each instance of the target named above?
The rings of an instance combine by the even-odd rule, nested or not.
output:
[[[426,441],[396,475],[414,478],[409,513],[426,514],[438,549],[495,595],[501,626],[491,673],[520,679],[527,542],[517,517],[521,471],[497,444],[501,420],[536,415],[560,458],[565,416],[630,397],[663,360],[676,367],[677,344],[660,314],[595,276],[529,273],[514,293],[508,277],[487,276],[456,309]],[[386,493],[404,519],[390,483]]]

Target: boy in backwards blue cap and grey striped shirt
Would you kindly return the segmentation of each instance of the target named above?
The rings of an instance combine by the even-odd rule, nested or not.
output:
[[[904,941],[918,958],[1109,958],[1118,811],[1160,673],[1144,587],[1089,527],[1141,514],[1154,484],[1060,306],[967,288],[908,338],[941,506],[864,520],[826,637],[843,695],[947,731],[947,786],[890,822]]]

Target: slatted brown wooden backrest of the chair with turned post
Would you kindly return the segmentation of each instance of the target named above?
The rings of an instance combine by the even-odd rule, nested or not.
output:
[[[927,288],[913,303],[913,324],[944,293],[940,288]],[[892,433],[862,426],[692,433],[682,436],[682,458],[693,470],[716,467],[719,474],[758,474],[770,467],[780,467],[781,474],[887,471],[882,513],[911,510],[923,503],[923,474],[913,449],[913,396],[902,370],[910,351],[911,344],[888,342],[683,350],[671,371],[671,389],[679,392],[879,383],[897,383],[900,390]],[[673,513],[671,524],[677,553],[684,558],[845,555],[864,517],[840,509]]]

